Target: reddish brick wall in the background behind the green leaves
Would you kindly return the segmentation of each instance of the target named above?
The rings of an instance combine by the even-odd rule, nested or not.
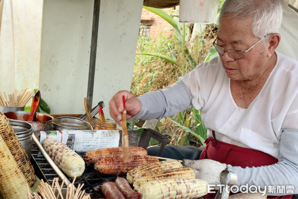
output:
[[[168,14],[171,14],[173,8],[164,8]],[[141,24],[151,24],[148,25],[149,37],[155,38],[161,31],[163,35],[171,35],[173,32],[173,26],[171,26],[166,20],[160,16],[148,11],[147,9],[142,10]]]

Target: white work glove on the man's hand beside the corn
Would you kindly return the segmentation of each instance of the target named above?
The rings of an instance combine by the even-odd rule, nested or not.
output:
[[[209,185],[220,185],[220,174],[226,169],[226,164],[210,159],[184,159],[182,165],[192,168],[196,175],[196,179],[207,181]]]

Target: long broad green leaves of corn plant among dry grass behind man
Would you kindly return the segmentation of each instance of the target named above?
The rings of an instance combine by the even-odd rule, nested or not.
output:
[[[222,5],[224,0],[221,0],[220,4]],[[187,68],[189,67],[191,70],[194,69],[198,63],[202,62],[201,55],[203,54],[203,46],[204,40],[200,39],[203,36],[197,35],[195,37],[193,43],[192,52],[187,47],[187,42],[190,34],[190,30],[185,23],[180,23],[178,17],[171,17],[167,14],[164,10],[159,8],[147,7],[143,6],[145,9],[155,13],[156,15],[160,16],[164,20],[166,20],[169,24],[171,24],[174,28],[174,35],[175,38],[178,40],[180,44],[180,49],[175,50],[173,49],[170,43],[167,44],[168,51],[170,52],[170,56],[160,54],[160,53],[151,53],[151,52],[142,52],[136,53],[137,55],[149,55],[152,57],[156,57],[159,59],[163,59],[172,63],[173,65],[177,66],[181,72],[181,75],[184,76],[187,73]],[[220,6],[221,7],[221,6]],[[220,11],[220,7],[218,12]],[[182,53],[182,61],[177,62],[176,54],[175,53]],[[217,51],[214,47],[210,49],[210,53],[204,59],[204,61],[208,61],[213,59],[214,57],[218,56]],[[182,111],[177,113],[173,119],[169,119],[174,122],[176,125],[182,128],[182,132],[179,137],[177,137],[177,144],[180,146],[189,145],[190,144],[190,135],[193,135],[195,138],[199,140],[201,145],[205,145],[205,139],[207,138],[207,129],[202,121],[201,111],[196,110],[195,108],[192,109],[191,113],[188,114],[188,111]],[[166,133],[170,135],[169,133]]]

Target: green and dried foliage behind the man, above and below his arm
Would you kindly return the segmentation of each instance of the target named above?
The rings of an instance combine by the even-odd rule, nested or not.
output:
[[[221,0],[220,7],[223,1]],[[192,40],[191,24],[180,23],[178,17],[170,16],[162,9],[143,7],[166,20],[174,31],[170,38],[162,34],[154,39],[139,38],[131,89],[136,96],[169,86],[178,77],[193,70],[197,64],[218,56],[212,47],[216,35],[215,25],[206,25],[205,32],[195,35]],[[168,121],[174,123],[174,126]],[[207,138],[201,111],[195,108],[161,120],[157,130],[172,138],[171,143],[176,145],[189,145],[192,138],[197,139],[195,142],[199,145],[204,145]],[[152,140],[152,145],[154,144]]]

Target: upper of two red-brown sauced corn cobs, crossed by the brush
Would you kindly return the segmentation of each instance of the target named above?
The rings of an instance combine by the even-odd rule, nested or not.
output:
[[[134,156],[146,156],[147,151],[142,147],[129,147],[131,153]],[[112,148],[102,148],[102,149],[95,149],[92,151],[87,151],[84,154],[84,161],[89,163],[96,163],[100,159],[105,158],[122,158],[122,147],[112,147]]]

